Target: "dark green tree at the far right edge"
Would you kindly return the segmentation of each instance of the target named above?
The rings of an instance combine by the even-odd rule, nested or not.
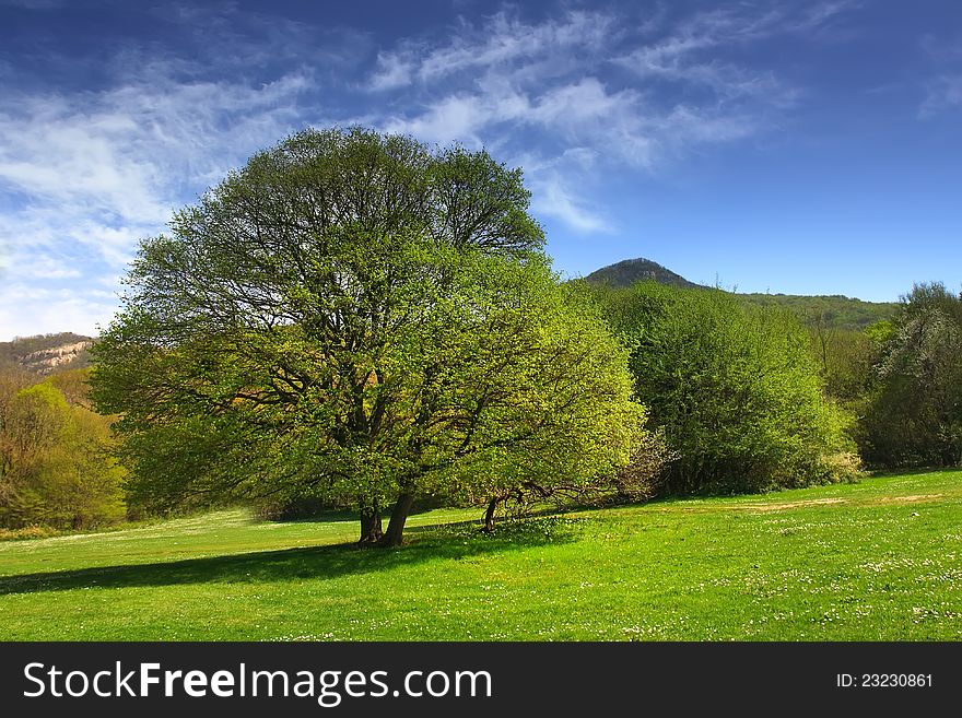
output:
[[[942,284],[903,297],[881,342],[863,420],[866,459],[888,468],[962,462],[962,298]]]

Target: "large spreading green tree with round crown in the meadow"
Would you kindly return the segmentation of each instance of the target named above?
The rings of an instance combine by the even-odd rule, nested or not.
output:
[[[133,498],[315,493],[397,545],[418,493],[625,463],[624,356],[559,286],[528,197],[483,151],[309,130],[178,212],[95,348]]]

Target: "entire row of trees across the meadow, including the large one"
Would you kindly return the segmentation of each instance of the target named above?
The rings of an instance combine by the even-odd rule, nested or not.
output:
[[[858,332],[717,290],[562,283],[528,199],[483,151],[309,130],[177,213],[94,348],[130,506],[317,501],[398,545],[417,498],[484,506],[491,528],[512,503],[852,479],[857,448],[959,462],[962,309],[942,287]],[[69,393],[8,391],[3,432],[43,422],[47,455],[93,457],[78,447],[102,450],[107,420]],[[101,513],[78,519],[40,487],[79,469],[3,450],[0,520],[118,510],[103,451]]]

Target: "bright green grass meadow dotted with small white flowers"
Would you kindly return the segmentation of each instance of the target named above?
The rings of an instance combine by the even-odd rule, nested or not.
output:
[[[0,637],[30,640],[958,640],[962,472],[655,502],[477,530],[230,510],[0,543]]]

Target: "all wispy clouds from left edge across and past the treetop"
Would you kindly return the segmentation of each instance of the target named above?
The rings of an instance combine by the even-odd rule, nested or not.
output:
[[[96,58],[45,47],[52,76],[72,61],[96,63],[95,86],[19,85],[22,68],[0,60],[9,85],[0,94],[0,333],[21,331],[20,314],[56,325],[40,331],[91,331],[109,316],[140,237],[308,123],[356,121],[486,146],[525,168],[536,214],[584,235],[615,233],[606,178],[657,174],[700,148],[766,132],[799,89],[753,64],[751,48],[789,35],[830,38],[853,7],[773,0],[691,13],[664,3],[533,20],[507,5],[377,47],[363,30],[233,2],[183,3],[149,11],[183,46],[119,43]],[[954,75],[946,76],[932,83],[930,111],[959,102]],[[91,285],[107,296],[90,298]],[[84,311],[86,323],[70,323]]]

